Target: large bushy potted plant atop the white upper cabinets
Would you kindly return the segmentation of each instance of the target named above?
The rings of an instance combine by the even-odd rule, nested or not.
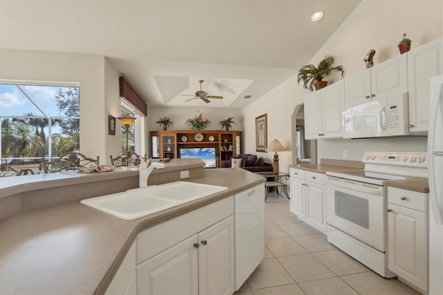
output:
[[[298,70],[297,82],[303,82],[303,87],[314,91],[314,86],[316,90],[326,87],[327,81],[323,81],[323,78],[330,75],[332,72],[343,72],[343,66],[332,66],[335,62],[335,57],[332,55],[325,55],[325,58],[320,61],[318,66],[314,64],[307,64],[302,66]]]

